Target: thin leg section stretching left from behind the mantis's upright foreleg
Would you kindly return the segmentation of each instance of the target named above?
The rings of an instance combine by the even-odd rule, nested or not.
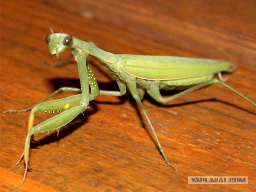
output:
[[[43,98],[42,100],[40,100],[37,104],[46,101],[47,99],[51,98],[52,96],[56,95],[58,92],[61,92],[61,91],[63,91],[63,92],[72,92],[72,91],[74,91],[74,92],[81,92],[81,89],[74,88],[74,87],[61,87],[61,88],[57,89],[56,91],[52,92],[50,95],[48,95],[45,98]],[[30,107],[28,107],[26,109],[22,109],[22,110],[6,110],[6,111],[4,111],[4,113],[27,112],[27,111],[31,110],[34,106],[35,105],[30,106]]]

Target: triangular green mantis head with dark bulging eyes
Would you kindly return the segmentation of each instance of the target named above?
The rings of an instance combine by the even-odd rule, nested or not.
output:
[[[64,52],[73,44],[73,37],[65,33],[52,33],[46,36],[46,43],[51,54],[58,58],[60,52]]]

